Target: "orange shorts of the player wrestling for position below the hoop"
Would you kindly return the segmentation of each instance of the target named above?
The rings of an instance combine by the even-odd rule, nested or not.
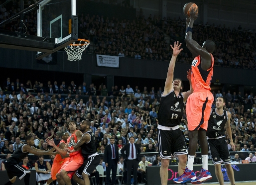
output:
[[[71,179],[76,173],[77,169],[79,169],[79,167],[81,167],[83,163],[84,158],[82,154],[76,154],[75,156],[70,157],[69,160],[64,163],[58,173],[60,173],[62,170],[65,170],[68,173],[68,177]]]

